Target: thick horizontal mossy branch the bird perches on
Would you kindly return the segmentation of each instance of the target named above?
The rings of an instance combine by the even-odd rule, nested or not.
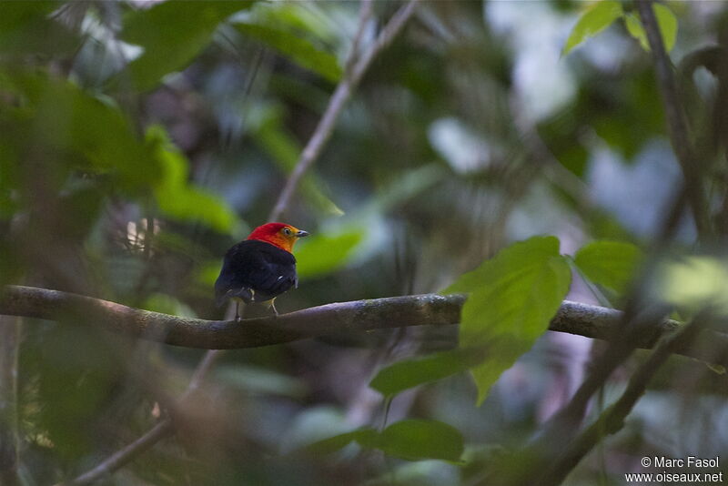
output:
[[[315,338],[333,332],[361,332],[404,326],[446,326],[460,322],[463,295],[424,294],[338,302],[297,310],[278,317],[231,320],[186,319],[130,308],[58,290],[6,286],[0,293],[0,314],[28,318],[74,319],[135,338],[200,349],[242,349]],[[621,312],[564,300],[549,329],[587,338],[611,339]],[[647,329],[635,345],[650,349],[679,323],[665,320]],[[728,335],[703,332],[700,346],[678,352],[728,365]]]

